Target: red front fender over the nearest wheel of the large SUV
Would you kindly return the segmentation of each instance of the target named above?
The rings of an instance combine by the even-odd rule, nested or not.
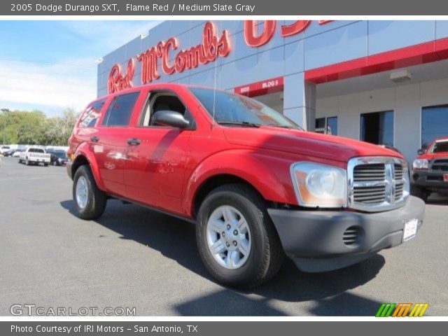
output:
[[[248,149],[223,151],[200,162],[186,183],[183,211],[193,214],[197,190],[214,176],[232,175],[243,179],[272,202],[296,204],[290,179],[290,160],[255,153]]]

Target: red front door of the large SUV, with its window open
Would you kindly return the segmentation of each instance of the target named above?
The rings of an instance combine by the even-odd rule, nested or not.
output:
[[[179,93],[145,92],[145,104],[125,151],[125,184],[130,200],[181,214],[188,140],[194,131],[153,124],[154,113],[161,110],[179,112],[194,123]]]

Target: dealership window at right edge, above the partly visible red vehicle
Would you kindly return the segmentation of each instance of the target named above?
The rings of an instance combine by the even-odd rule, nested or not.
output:
[[[448,105],[421,109],[421,148],[428,148],[434,139],[448,135]]]

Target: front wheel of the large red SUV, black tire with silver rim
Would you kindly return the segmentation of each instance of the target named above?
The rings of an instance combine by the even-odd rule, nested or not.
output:
[[[227,286],[257,286],[283,263],[265,201],[244,185],[222,186],[207,195],[199,210],[196,239],[205,267]]]

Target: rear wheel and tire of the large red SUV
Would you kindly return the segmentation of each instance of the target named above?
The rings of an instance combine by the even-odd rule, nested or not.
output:
[[[72,193],[76,216],[79,218],[90,220],[99,218],[104,213],[107,196],[99,190],[88,165],[76,170]]]

